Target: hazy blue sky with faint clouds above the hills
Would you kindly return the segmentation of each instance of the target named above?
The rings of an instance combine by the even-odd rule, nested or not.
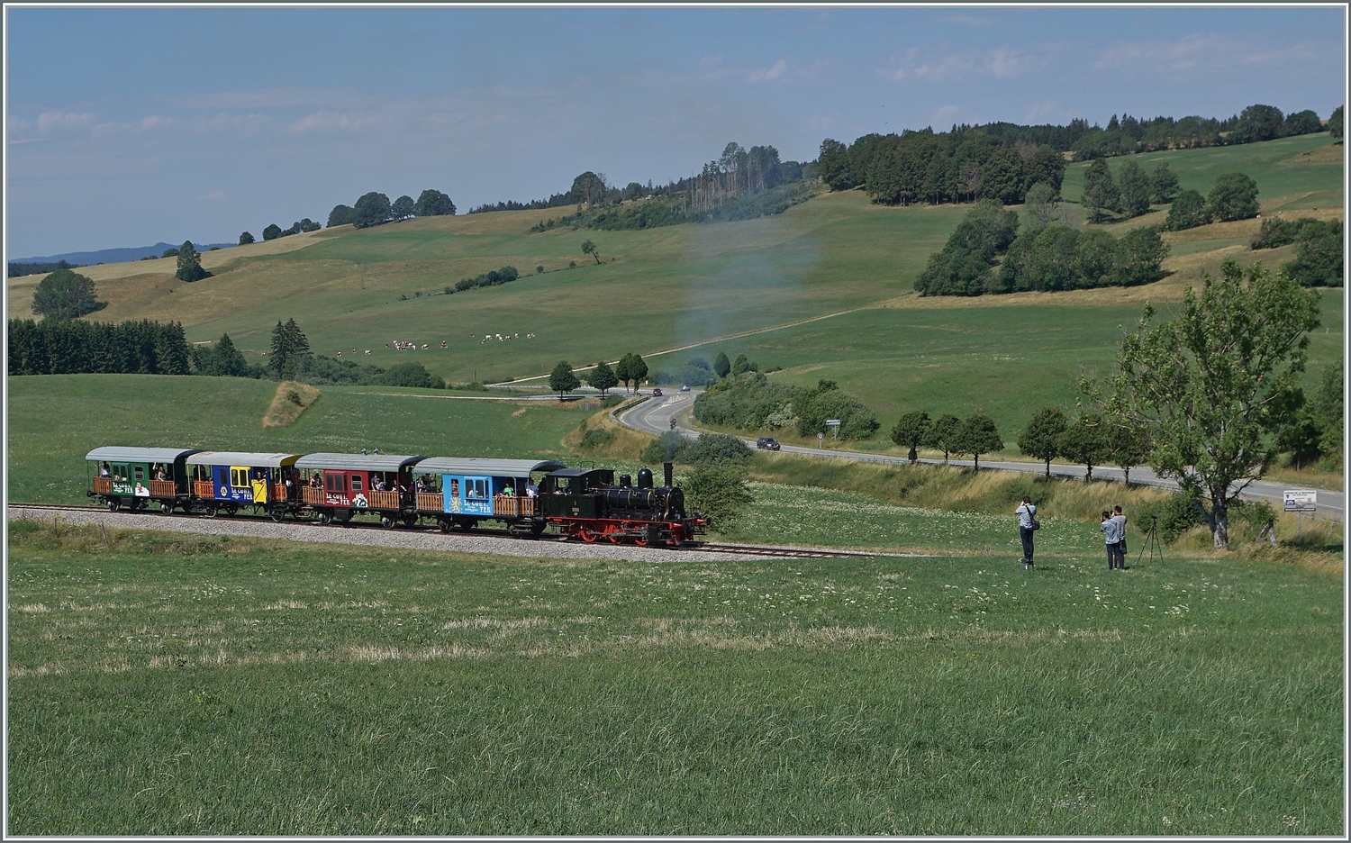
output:
[[[485,201],[728,140],[1344,100],[1328,8],[5,9],[7,254],[224,242],[367,190]]]

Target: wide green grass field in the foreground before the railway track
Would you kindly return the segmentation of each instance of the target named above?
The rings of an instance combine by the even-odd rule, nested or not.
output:
[[[1339,566],[9,536],[15,835],[1344,832]]]

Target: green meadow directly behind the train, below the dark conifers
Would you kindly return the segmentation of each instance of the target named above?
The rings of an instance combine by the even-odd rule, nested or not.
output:
[[[546,457],[594,404],[459,401],[435,389],[324,386],[290,427],[263,428],[277,385],[251,378],[51,374],[9,384],[9,500],[82,503],[103,444],[240,451]],[[482,393],[471,393],[482,396]]]

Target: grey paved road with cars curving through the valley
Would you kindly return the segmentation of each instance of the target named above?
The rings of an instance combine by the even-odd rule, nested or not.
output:
[[[686,436],[696,436],[697,434],[686,427],[689,424],[689,411],[694,407],[694,396],[697,392],[677,392],[659,399],[648,399],[636,407],[632,407],[616,417],[620,423],[632,427],[634,430],[643,431],[644,434],[661,434],[663,431],[671,430],[670,422],[676,419],[677,430],[680,430]],[[754,439],[746,439],[746,444],[755,447]],[[886,465],[905,465],[909,461],[904,457],[888,457],[880,454],[863,454],[859,451],[846,451],[839,449],[811,449],[801,447],[796,444],[782,446],[782,453],[785,454],[804,454],[808,457],[825,457],[834,459],[855,459],[859,462],[878,462]],[[921,458],[920,462],[942,463],[942,459],[927,459]],[[951,465],[957,466],[970,466],[970,459],[952,459]],[[981,467],[986,469],[1002,469],[1006,471],[1046,471],[1044,462],[1009,462],[1000,459],[982,459]],[[1084,466],[1061,465],[1056,462],[1051,463],[1052,477],[1077,477],[1084,478],[1086,470]],[[1094,480],[1124,480],[1124,471],[1121,469],[1108,469],[1108,467],[1094,467]],[[1147,467],[1131,469],[1131,482],[1144,486],[1158,486],[1161,489],[1178,489],[1178,484],[1173,480],[1167,480],[1156,476]],[[1279,481],[1258,481],[1247,488],[1243,497],[1266,500],[1275,503],[1278,507],[1283,499],[1285,490],[1289,489],[1289,484]],[[1342,520],[1346,512],[1346,493],[1343,490],[1332,489],[1319,489],[1319,515],[1325,519]]]

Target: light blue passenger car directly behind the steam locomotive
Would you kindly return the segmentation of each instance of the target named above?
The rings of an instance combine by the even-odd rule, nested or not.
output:
[[[413,466],[417,515],[442,530],[469,530],[482,520],[540,532],[543,512],[535,505],[532,474],[565,467],[551,459],[480,459],[431,457]]]

